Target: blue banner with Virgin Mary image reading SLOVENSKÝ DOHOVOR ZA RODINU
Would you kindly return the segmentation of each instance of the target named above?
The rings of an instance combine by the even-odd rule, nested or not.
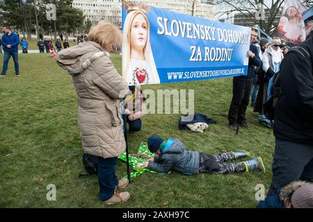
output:
[[[160,8],[124,8],[123,78],[143,85],[246,75],[250,32]]]

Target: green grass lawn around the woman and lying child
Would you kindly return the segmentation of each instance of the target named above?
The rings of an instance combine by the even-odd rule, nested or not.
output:
[[[120,56],[111,58],[120,71]],[[20,55],[19,65],[22,77],[14,76],[10,60],[7,76],[0,79],[0,207],[255,207],[255,186],[263,184],[268,189],[272,130],[259,125],[250,107],[250,128],[241,128],[239,135],[228,129],[232,78],[222,78],[145,86],[155,91],[194,89],[195,112],[207,114],[218,123],[204,133],[191,133],[178,130],[179,114],[146,114],[143,130],[129,135],[129,151],[136,152],[141,142],[157,134],[180,139],[189,150],[212,154],[250,151],[252,157],[263,158],[266,173],[144,173],[125,189],[131,193],[126,203],[104,205],[98,200],[97,177],[78,178],[84,173],[83,149],[72,78],[48,54]],[[117,175],[125,174],[126,164],[119,161]],[[46,199],[49,184],[56,185],[56,201]]]

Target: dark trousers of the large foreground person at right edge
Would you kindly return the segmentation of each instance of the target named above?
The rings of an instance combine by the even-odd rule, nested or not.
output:
[[[268,195],[296,180],[313,181],[313,145],[276,137],[272,171]]]

